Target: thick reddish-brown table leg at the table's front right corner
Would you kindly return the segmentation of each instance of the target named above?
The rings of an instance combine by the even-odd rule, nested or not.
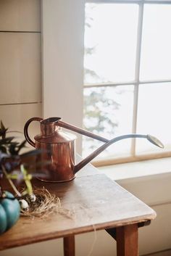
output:
[[[138,224],[116,228],[117,256],[138,256]]]

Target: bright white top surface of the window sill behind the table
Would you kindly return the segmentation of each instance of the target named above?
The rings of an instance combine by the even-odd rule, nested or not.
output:
[[[112,178],[114,181],[154,176],[171,172],[171,157],[108,165],[99,167],[98,170],[101,173],[106,174],[109,178]]]

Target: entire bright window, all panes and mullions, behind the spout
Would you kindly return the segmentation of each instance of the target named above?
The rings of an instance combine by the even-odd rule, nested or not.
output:
[[[170,154],[171,1],[89,1],[85,23],[84,128],[107,139],[151,134],[164,144],[127,139],[98,159]],[[84,155],[97,146],[83,138]]]

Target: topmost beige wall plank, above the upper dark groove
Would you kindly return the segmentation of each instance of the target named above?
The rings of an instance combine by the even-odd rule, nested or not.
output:
[[[41,31],[41,0],[0,0],[0,30]]]

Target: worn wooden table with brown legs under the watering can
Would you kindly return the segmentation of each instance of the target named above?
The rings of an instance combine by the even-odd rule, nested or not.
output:
[[[0,249],[64,238],[64,256],[75,255],[75,235],[105,229],[117,241],[117,256],[138,255],[138,227],[149,224],[156,213],[91,165],[67,183],[43,183],[57,194],[72,215],[56,214],[48,220],[20,218],[0,236]],[[107,255],[107,253],[106,253]]]

